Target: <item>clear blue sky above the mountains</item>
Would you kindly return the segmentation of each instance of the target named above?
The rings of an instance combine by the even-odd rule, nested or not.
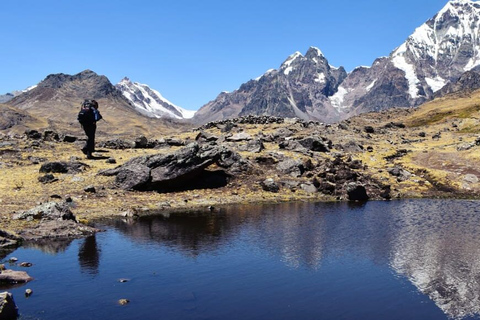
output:
[[[52,73],[127,76],[197,110],[295,51],[371,65],[447,0],[2,0],[0,94]]]

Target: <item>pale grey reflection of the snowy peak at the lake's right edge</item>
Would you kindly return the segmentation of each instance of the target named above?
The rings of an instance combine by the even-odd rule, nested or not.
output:
[[[468,201],[402,208],[392,267],[452,318],[480,314],[480,216]]]

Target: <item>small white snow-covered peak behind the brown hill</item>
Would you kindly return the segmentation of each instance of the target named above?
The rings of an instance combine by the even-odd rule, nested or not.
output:
[[[132,82],[129,78],[123,78],[115,85],[123,96],[141,113],[154,118],[189,119],[195,111],[185,110],[165,99],[160,92],[150,88],[146,84]]]

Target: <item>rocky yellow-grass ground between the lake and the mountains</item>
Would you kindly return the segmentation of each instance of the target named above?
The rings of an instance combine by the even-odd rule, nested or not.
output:
[[[92,160],[81,135],[5,132],[4,245],[80,237],[100,217],[233,203],[478,198],[479,108],[467,98],[332,125],[244,117],[161,138],[101,134]]]

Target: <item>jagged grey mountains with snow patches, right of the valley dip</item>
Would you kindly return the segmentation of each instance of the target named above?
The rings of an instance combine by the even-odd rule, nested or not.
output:
[[[295,53],[279,69],[221,93],[194,121],[238,115],[296,116],[334,122],[393,107],[413,107],[480,64],[480,4],[452,0],[388,57],[346,74],[320,50]]]

